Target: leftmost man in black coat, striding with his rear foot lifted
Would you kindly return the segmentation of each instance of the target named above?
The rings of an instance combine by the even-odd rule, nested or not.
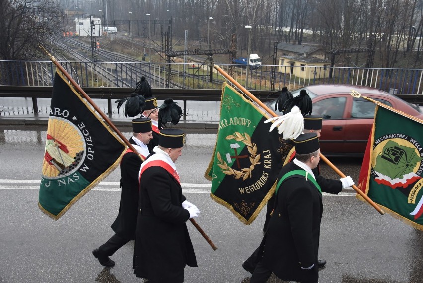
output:
[[[135,239],[139,198],[138,172],[142,162],[149,155],[147,144],[152,139],[151,119],[137,118],[132,120],[132,129],[133,136],[129,139],[129,142],[137,153],[127,149],[121,160],[121,201],[118,216],[111,226],[115,234],[92,252],[100,264],[107,267],[115,265],[115,262],[109,256],[130,240]]]

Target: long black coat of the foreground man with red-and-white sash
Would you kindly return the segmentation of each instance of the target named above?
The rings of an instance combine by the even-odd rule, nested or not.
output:
[[[185,265],[197,266],[184,200],[181,185],[164,168],[152,166],[142,173],[133,261],[137,277],[180,283]]]

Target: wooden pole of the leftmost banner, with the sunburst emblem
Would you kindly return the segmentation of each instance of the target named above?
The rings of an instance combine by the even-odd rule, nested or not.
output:
[[[122,141],[133,151],[137,152],[137,150],[132,146],[132,144],[125,138],[125,136],[116,128],[116,126],[110,121],[110,119],[106,116],[106,114],[101,111],[100,108],[94,103],[94,101],[91,99],[91,97],[88,96],[88,94],[85,93],[85,91],[78,85],[78,83],[73,80],[73,78],[69,75],[69,73],[62,67],[62,65],[57,62],[56,58],[50,54],[47,49],[44,48],[41,44],[38,44],[38,47],[43,50],[47,56],[50,57],[50,60],[56,65],[56,67],[62,72],[62,74],[65,75],[65,77],[72,83],[73,87],[91,104],[91,106],[97,111],[97,113],[104,119],[104,121],[115,131],[115,133],[122,139]],[[138,154],[138,156],[142,159],[141,155]],[[143,159],[142,159],[143,161]],[[190,219],[191,223],[194,225],[194,227],[197,228],[197,230],[200,232],[200,234],[206,239],[206,241],[209,243],[211,248],[213,250],[216,250],[216,246],[213,244],[211,239],[207,236],[207,234],[201,229],[201,227],[197,224],[197,222],[194,219]]]

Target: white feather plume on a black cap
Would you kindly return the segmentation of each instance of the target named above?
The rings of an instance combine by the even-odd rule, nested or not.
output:
[[[265,123],[273,122],[269,129],[271,132],[278,127],[278,133],[283,133],[283,139],[296,139],[304,131],[304,117],[297,106],[292,107],[292,110],[280,117],[273,117],[264,121]]]

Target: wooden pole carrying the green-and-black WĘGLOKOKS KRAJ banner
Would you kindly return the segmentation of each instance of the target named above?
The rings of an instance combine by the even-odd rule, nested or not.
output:
[[[278,115],[275,114],[269,107],[267,107],[262,101],[260,101],[256,96],[251,94],[246,88],[244,88],[240,83],[238,83],[235,79],[233,79],[231,76],[229,76],[228,73],[226,73],[222,68],[220,68],[218,65],[213,64],[214,69],[216,69],[220,74],[222,74],[226,79],[228,79],[232,84],[234,84],[238,89],[240,89],[245,95],[247,95],[251,100],[256,102],[260,107],[265,109],[269,114],[271,114],[274,117],[277,117]],[[322,153],[320,153],[320,158],[326,162],[327,165],[329,165],[332,170],[334,170],[341,178],[345,177],[345,174],[341,172],[332,162],[330,162]],[[385,211],[383,211],[379,205],[377,205],[373,200],[371,200],[364,192],[362,192],[360,189],[358,189],[357,186],[352,185],[352,189],[354,189],[363,199],[365,199],[371,206],[374,207],[380,214],[385,214]]]

